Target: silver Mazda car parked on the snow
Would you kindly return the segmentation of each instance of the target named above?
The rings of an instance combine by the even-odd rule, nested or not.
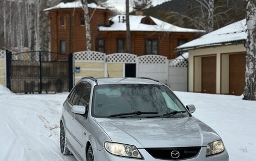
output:
[[[61,153],[90,161],[227,161],[221,137],[194,111],[156,80],[85,77],[63,104]]]

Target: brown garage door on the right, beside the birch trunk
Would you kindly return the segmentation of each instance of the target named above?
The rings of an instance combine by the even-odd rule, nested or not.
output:
[[[245,53],[230,54],[230,94],[241,95],[245,83]]]

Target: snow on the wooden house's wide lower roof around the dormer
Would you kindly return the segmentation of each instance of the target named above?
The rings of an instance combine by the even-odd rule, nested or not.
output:
[[[120,17],[120,18],[119,18]],[[126,22],[122,22],[125,15],[116,15],[111,20],[113,24],[109,27],[100,26],[100,31],[126,31]],[[167,32],[180,32],[180,33],[205,33],[204,30],[186,29],[178,27],[167,22],[161,21],[154,17],[150,17],[156,25],[142,24],[141,20],[146,16],[130,15],[130,30],[131,31],[167,31]],[[120,19],[120,20],[119,20]]]

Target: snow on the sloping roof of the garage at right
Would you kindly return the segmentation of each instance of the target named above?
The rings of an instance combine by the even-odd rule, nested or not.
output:
[[[237,21],[233,24],[212,31],[198,39],[182,44],[176,49],[202,48],[212,45],[231,44],[239,40],[246,40],[246,20]]]

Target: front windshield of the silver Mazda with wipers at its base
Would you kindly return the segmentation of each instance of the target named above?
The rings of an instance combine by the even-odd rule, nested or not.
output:
[[[92,116],[100,118],[189,117],[164,85],[114,84],[94,88]]]

